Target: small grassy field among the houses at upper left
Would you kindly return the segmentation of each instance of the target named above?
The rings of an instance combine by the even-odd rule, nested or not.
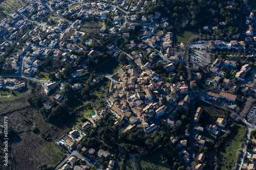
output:
[[[80,28],[81,32],[85,32],[87,34],[96,33],[98,29],[103,26],[103,21],[86,21],[83,23],[82,27]]]

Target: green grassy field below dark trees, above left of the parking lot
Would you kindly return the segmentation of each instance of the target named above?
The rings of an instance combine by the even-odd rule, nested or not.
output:
[[[180,30],[174,31],[174,41],[187,42],[191,37],[198,36],[198,30]]]

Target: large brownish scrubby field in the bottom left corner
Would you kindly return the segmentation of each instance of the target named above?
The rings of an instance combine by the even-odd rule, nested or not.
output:
[[[16,169],[37,169],[41,163],[55,166],[65,155],[54,145],[32,132],[16,135],[12,144]]]

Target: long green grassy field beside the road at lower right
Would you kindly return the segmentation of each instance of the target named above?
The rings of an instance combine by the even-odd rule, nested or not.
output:
[[[219,160],[222,162],[221,169],[231,169],[234,166],[244,133],[244,126],[237,125],[219,148]]]

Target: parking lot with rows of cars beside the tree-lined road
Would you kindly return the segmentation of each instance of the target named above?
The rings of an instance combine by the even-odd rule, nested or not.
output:
[[[203,67],[204,65],[210,63],[210,54],[206,53],[205,51],[191,49],[190,62],[193,65]]]

